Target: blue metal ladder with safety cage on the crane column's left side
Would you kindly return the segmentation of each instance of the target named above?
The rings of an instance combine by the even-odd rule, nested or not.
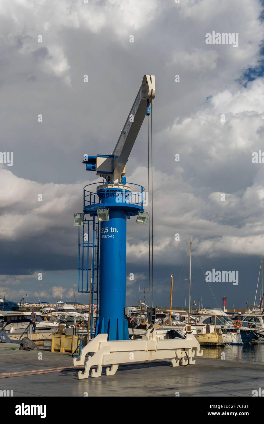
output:
[[[91,278],[91,338],[94,335],[94,320],[98,318],[98,283],[99,283],[99,221],[97,216],[86,219],[79,227],[79,265],[78,265],[78,292],[90,294]],[[93,304],[96,313],[93,313]]]

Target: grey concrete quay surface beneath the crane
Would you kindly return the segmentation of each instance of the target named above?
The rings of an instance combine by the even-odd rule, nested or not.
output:
[[[0,344],[0,390],[13,390],[14,396],[176,396],[179,392],[179,396],[251,397],[253,390],[264,388],[264,365],[259,363],[207,358],[175,368],[167,361],[138,363],[120,365],[114,376],[78,380],[78,371],[69,368],[69,354],[51,353],[50,346],[33,351],[6,349],[14,347]],[[47,372],[50,368],[59,369]],[[33,374],[22,375],[28,371]]]

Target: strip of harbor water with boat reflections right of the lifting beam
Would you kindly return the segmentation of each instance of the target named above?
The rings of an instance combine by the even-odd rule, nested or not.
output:
[[[244,346],[211,347],[202,346],[203,358],[221,359],[221,353],[225,352],[226,360],[244,362],[264,362],[264,344]]]

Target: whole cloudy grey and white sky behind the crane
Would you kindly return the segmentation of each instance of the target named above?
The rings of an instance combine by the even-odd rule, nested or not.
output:
[[[169,304],[173,273],[173,305],[184,304],[190,230],[192,301],[253,303],[264,251],[264,163],[252,162],[264,151],[263,9],[261,0],[0,1],[0,150],[14,155],[13,166],[0,164],[0,295],[72,299],[73,214],[82,210],[83,186],[100,181],[83,154],[112,153],[149,73],[154,303]],[[238,47],[206,44],[213,31],[238,34]],[[127,179],[147,186],[146,120]],[[239,284],[206,283],[197,257],[204,272],[238,271]],[[136,304],[139,285],[148,287],[148,229],[135,219],[129,273],[127,302]]]

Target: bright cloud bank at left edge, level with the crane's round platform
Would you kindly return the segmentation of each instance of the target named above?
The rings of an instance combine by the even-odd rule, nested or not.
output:
[[[2,216],[0,239],[19,240],[21,237],[41,235],[56,226],[65,226],[64,219],[72,220],[75,204],[80,204],[84,184],[39,184],[15,176],[0,168],[0,196]],[[42,201],[39,201],[42,194]]]

